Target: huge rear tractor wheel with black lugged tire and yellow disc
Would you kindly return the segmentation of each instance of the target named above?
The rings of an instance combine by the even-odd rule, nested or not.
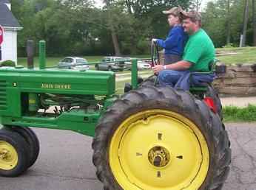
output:
[[[218,115],[192,94],[154,86],[113,103],[92,149],[104,190],[217,190],[231,161]]]

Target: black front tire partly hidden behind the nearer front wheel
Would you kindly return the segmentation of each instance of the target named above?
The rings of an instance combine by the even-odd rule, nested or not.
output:
[[[4,130],[14,131],[25,139],[30,149],[30,161],[28,167],[33,166],[40,152],[40,143],[36,133],[34,133],[33,130],[31,130],[29,127],[11,126],[4,127]]]

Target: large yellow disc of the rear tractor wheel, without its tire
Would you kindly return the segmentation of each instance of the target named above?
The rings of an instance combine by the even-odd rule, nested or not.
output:
[[[199,189],[209,150],[198,127],[161,109],[127,118],[110,142],[110,169],[123,189]]]

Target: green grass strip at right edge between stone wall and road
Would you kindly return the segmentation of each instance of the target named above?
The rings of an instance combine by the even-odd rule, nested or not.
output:
[[[224,122],[256,122],[256,105],[246,108],[226,106],[223,108]]]

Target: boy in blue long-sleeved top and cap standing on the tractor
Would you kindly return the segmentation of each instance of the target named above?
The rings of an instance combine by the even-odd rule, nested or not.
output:
[[[163,11],[168,15],[168,23],[171,29],[166,40],[155,39],[152,41],[164,48],[164,65],[175,63],[181,60],[184,46],[188,35],[181,26],[181,7],[172,7],[170,10]]]

